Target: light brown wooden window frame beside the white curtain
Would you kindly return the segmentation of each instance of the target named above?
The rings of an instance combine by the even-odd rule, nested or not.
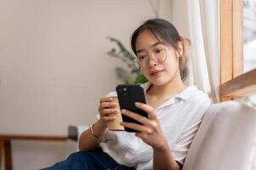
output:
[[[220,0],[219,4],[219,97],[226,101],[256,93],[256,69],[243,72],[243,1]]]

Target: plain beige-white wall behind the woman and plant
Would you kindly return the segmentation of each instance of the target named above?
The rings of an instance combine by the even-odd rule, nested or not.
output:
[[[160,17],[175,19],[184,35],[179,8],[162,0]],[[106,54],[115,45],[106,37],[129,47],[132,31],[152,16],[147,0],[2,0],[0,133],[66,135],[70,124],[94,122],[100,96],[119,83],[121,62]],[[15,141],[14,170],[51,165],[75,148]]]

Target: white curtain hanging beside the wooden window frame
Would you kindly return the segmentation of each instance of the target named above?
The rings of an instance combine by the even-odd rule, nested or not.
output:
[[[189,83],[219,102],[219,0],[187,0],[191,36]]]

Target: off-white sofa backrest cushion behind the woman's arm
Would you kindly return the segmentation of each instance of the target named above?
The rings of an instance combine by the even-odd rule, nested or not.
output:
[[[256,111],[237,101],[213,104],[203,117],[183,170],[252,167]]]

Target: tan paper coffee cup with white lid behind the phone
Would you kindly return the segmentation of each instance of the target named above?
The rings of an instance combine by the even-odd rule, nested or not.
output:
[[[117,103],[117,111],[118,111],[117,114],[113,114],[113,116],[116,116],[116,119],[112,122],[107,123],[108,129],[113,131],[123,131],[124,127],[120,125],[120,122],[122,122],[122,114],[121,114],[120,106],[117,99],[117,92],[110,92],[105,96],[112,98],[113,101]]]

